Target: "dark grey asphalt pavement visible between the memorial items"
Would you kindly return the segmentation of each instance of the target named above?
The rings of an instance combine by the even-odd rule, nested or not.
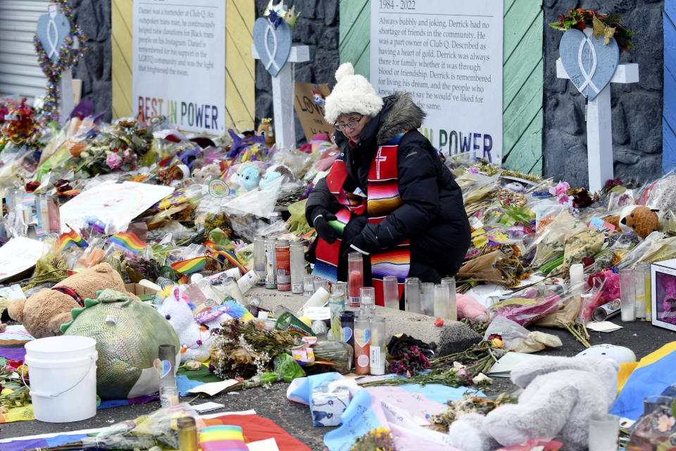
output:
[[[636,354],[637,359],[646,354],[657,350],[659,347],[670,341],[676,340],[676,333],[672,330],[652,326],[650,322],[636,321],[634,323],[622,323],[620,316],[615,316],[610,320],[613,323],[624,326],[622,329],[612,333],[599,333],[589,331],[589,342],[592,345],[609,343],[612,345],[621,345],[629,347]],[[584,346],[577,342],[568,331],[556,328],[529,328],[530,330],[542,330],[546,333],[558,335],[563,342],[559,348],[547,349],[539,354],[556,356],[574,356],[584,350]],[[676,376],[675,376],[676,378]],[[290,402],[286,399],[286,389],[288,384],[276,383],[271,388],[252,388],[234,393],[216,395],[215,397],[204,397],[193,399],[184,397],[182,401],[190,401],[193,404],[213,401],[225,404],[225,408],[210,413],[225,411],[239,411],[254,409],[260,416],[265,416],[284,428],[294,437],[306,443],[312,450],[325,450],[323,436],[333,428],[313,427],[310,410],[307,406]],[[495,395],[502,392],[511,392],[516,390],[515,385],[506,378],[494,378],[494,384],[489,386],[485,393]],[[15,423],[1,424],[0,439],[20,437],[23,435],[34,435],[39,433],[76,431],[87,428],[101,428],[123,421],[132,419],[140,414],[152,412],[158,409],[159,402],[149,402],[147,404],[134,404],[124,407],[115,407],[113,409],[99,410],[92,419],[78,421],[67,424],[49,424],[40,421],[18,421]],[[1,449],[1,445],[0,445]]]

